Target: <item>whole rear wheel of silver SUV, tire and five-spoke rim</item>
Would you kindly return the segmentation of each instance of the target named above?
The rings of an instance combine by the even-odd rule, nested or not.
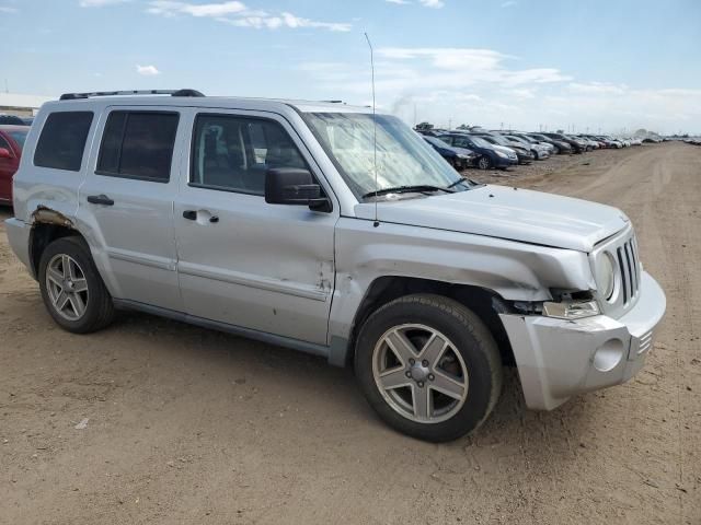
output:
[[[38,277],[44,305],[61,328],[87,334],[113,320],[112,296],[80,237],[49,244],[42,254]]]

